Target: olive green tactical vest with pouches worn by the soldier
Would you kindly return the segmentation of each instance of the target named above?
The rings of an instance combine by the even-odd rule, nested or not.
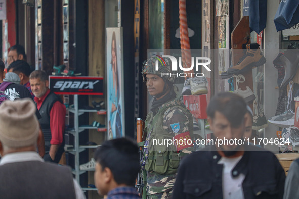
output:
[[[147,171],[154,171],[159,174],[175,174],[177,172],[177,168],[179,167],[179,153],[177,152],[176,146],[174,144],[168,147],[167,144],[153,144],[154,139],[173,139],[174,136],[163,129],[164,115],[166,116],[170,110],[178,107],[188,116],[188,120],[190,121],[188,126],[189,133],[191,139],[193,140],[194,138],[192,114],[185,107],[185,105],[183,105],[181,102],[178,102],[179,100],[170,101],[166,103],[155,116],[153,116],[152,112],[147,115],[145,121],[145,132],[147,132],[147,134],[151,132],[148,146],[149,155],[145,162],[145,170]]]

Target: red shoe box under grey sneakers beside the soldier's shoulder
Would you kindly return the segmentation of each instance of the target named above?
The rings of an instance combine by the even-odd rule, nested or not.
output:
[[[183,95],[184,104],[197,119],[206,119],[207,95]]]

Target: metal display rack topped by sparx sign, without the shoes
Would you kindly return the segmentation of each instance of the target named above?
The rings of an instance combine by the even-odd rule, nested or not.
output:
[[[83,131],[96,129],[98,132],[107,132],[107,117],[105,117],[105,127],[97,128],[88,125],[79,125],[79,116],[86,113],[97,113],[98,115],[106,115],[107,111],[96,109],[79,109],[79,95],[103,96],[103,77],[88,76],[49,76],[49,88],[58,95],[73,95],[73,105],[69,105],[68,114],[73,114],[73,128],[66,130],[66,133],[74,136],[72,145],[65,145],[65,151],[74,155],[74,167],[72,173],[80,184],[80,175],[95,169],[80,170],[80,153],[85,150],[95,149],[100,145],[80,145],[79,135]],[[67,103],[69,102],[68,97]],[[68,117],[69,124],[69,115]],[[84,191],[97,190],[96,188],[82,187]]]

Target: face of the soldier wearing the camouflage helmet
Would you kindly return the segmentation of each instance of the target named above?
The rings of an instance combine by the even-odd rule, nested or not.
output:
[[[154,75],[154,74],[146,75],[146,86],[151,96],[155,96],[163,92],[164,85],[165,85],[164,80],[158,75]]]

